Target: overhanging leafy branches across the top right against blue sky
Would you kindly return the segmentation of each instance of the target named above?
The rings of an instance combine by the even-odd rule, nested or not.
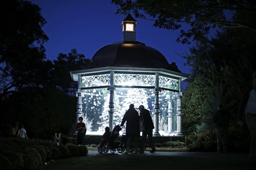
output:
[[[116,14],[133,13],[135,18],[154,21],[155,27],[180,30],[177,42],[205,42],[212,29],[242,28],[256,31],[255,5],[252,0],[112,0]],[[170,32],[171,34],[171,32]]]

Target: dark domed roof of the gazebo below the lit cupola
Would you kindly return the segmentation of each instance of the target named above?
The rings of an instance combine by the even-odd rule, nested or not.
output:
[[[158,50],[137,41],[122,41],[99,49],[92,60],[100,67],[166,69],[168,61]]]

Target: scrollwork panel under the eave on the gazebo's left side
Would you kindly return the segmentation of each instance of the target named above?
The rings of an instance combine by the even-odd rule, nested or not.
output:
[[[95,76],[82,76],[81,88],[99,87],[109,85],[110,74],[100,74]]]

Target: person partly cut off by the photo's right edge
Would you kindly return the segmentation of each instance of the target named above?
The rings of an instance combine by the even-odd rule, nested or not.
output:
[[[237,124],[243,125],[242,115],[245,112],[246,124],[251,134],[250,159],[256,159],[256,71],[252,76],[253,85],[246,88],[242,94]]]

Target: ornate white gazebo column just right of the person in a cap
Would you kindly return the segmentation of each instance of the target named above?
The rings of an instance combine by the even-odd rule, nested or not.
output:
[[[155,73],[155,108],[154,108],[154,126],[155,130],[153,135],[160,135],[159,133],[159,91],[161,92],[162,90],[159,89],[159,73]]]

